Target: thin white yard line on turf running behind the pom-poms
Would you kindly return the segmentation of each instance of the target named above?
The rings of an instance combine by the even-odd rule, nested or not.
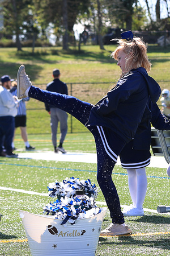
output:
[[[35,192],[35,191],[27,191],[24,189],[18,189],[18,188],[6,188],[6,187],[1,187],[0,186],[0,190],[6,190],[6,191],[15,191],[15,192],[19,192],[19,193],[25,193],[28,195],[37,195],[37,196],[49,196],[48,193],[39,193],[39,192]],[[100,205],[107,205],[105,202],[101,202],[101,201],[96,201],[96,204],[100,204]],[[122,208],[126,207],[127,205],[121,205]],[[152,210],[152,209],[148,209],[148,208],[143,208],[143,210],[145,212],[152,212],[152,213],[158,213],[157,210]],[[161,214],[169,214],[169,212],[167,213],[161,213]]]

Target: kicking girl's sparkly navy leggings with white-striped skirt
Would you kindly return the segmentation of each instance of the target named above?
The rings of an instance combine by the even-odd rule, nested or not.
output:
[[[80,101],[75,97],[59,93],[48,92],[34,86],[29,89],[28,96],[36,100],[54,105],[59,109],[73,115],[83,125],[90,116],[93,105]],[[120,200],[116,187],[112,181],[112,171],[125,143],[113,131],[101,126],[88,126],[94,135],[97,151],[97,182],[103,192],[105,201],[111,213],[113,223],[123,224],[124,215],[121,212]],[[110,142],[110,143],[109,143]]]

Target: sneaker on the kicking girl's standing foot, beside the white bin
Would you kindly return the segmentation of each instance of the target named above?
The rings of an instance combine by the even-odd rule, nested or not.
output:
[[[111,224],[108,228],[101,231],[100,236],[118,236],[121,234],[130,234],[132,231],[128,226],[121,224]]]

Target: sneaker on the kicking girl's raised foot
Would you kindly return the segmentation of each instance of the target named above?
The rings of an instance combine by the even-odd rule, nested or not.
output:
[[[32,85],[28,75],[25,73],[25,66],[21,65],[17,73],[17,97],[26,98],[25,91]]]

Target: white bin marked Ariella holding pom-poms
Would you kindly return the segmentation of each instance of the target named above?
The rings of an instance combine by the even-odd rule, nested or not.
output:
[[[61,225],[54,216],[19,210],[32,256],[94,256],[107,208],[95,216]]]

